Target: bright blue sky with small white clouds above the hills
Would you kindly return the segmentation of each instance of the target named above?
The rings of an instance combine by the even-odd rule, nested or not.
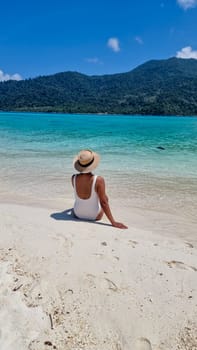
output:
[[[197,0],[1,3],[0,81],[121,73],[172,56],[197,59]]]

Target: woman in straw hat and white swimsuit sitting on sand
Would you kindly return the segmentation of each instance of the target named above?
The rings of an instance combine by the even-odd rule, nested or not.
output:
[[[82,150],[74,158],[73,165],[79,172],[72,176],[75,194],[74,215],[79,219],[100,220],[105,213],[112,226],[127,228],[113,218],[103,177],[92,174],[99,160],[100,156],[91,150]]]

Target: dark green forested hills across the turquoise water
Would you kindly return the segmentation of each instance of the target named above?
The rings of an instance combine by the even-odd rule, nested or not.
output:
[[[0,110],[197,115],[197,60],[153,60],[122,74],[64,72],[1,82]]]

